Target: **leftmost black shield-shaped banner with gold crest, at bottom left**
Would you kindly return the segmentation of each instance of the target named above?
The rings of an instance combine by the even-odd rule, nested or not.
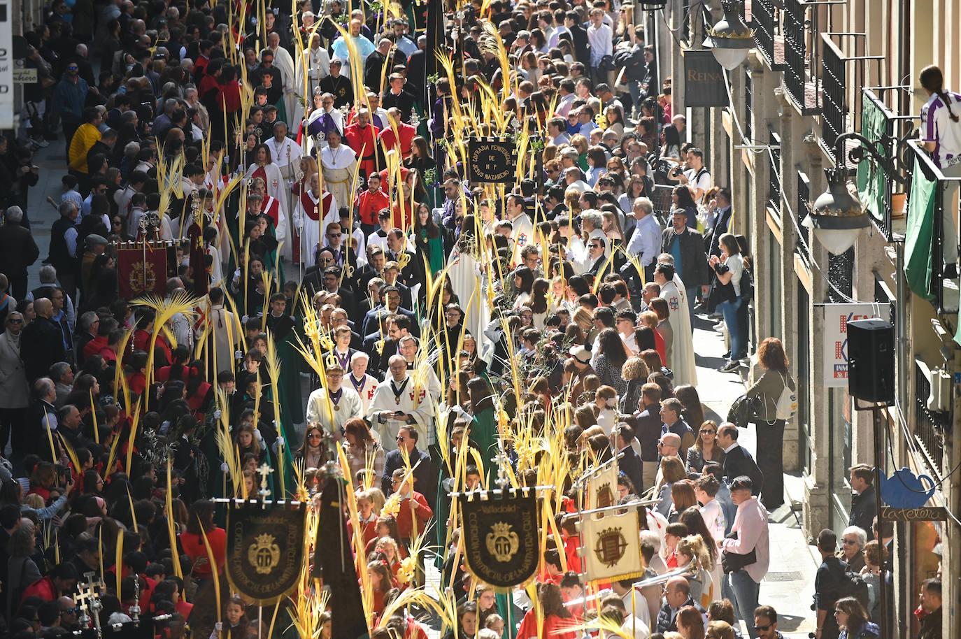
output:
[[[258,605],[272,605],[297,584],[304,565],[304,504],[231,504],[227,580]]]

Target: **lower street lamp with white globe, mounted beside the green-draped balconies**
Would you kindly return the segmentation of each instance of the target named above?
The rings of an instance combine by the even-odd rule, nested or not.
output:
[[[818,196],[801,224],[833,255],[839,256],[857,241],[861,229],[871,226],[868,214],[848,188],[848,170],[827,168],[827,190]]]

